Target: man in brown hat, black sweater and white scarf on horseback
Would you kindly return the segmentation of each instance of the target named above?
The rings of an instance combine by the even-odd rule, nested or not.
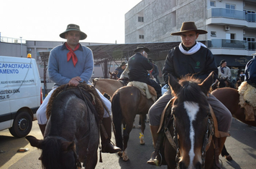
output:
[[[204,44],[196,42],[199,34],[207,34],[207,32],[197,29],[193,21],[183,22],[180,32],[171,34],[180,36],[181,42],[178,47],[170,49],[168,56],[165,59],[163,77],[166,84],[168,84],[168,74],[172,74],[176,79],[180,79],[180,77],[183,77],[186,74],[195,74],[196,77],[203,81],[212,71],[214,71],[215,81],[218,69],[214,55]],[[154,146],[156,143],[161,143],[163,140],[163,137],[157,137],[157,130],[160,125],[161,113],[172,97],[171,91],[168,90],[154,103],[154,105],[152,105],[152,107],[150,107],[150,130]],[[227,107],[219,102],[213,95],[209,95],[207,100],[215,112],[219,131],[229,132],[232,114]],[[148,160],[147,163],[151,165],[159,165],[159,159],[157,158],[159,158],[160,155],[158,155],[158,153],[159,147],[155,147],[155,153],[152,154],[151,159]]]

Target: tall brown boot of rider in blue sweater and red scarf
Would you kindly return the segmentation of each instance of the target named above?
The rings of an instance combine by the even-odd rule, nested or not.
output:
[[[102,153],[117,153],[121,151],[111,143],[111,118],[103,118],[101,125],[101,152]]]

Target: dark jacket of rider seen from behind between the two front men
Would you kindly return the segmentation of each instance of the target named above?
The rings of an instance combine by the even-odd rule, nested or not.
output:
[[[142,54],[136,53],[130,57],[128,61],[128,68],[129,81],[138,81],[150,84],[150,78],[147,75],[147,70],[152,69],[152,63],[150,63],[147,58],[143,57]]]

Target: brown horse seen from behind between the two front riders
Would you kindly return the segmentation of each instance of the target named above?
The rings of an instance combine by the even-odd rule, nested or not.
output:
[[[124,161],[129,159],[127,155],[127,143],[136,115],[140,115],[140,120],[142,122],[140,144],[145,144],[145,115],[153,103],[152,99],[147,99],[147,97],[142,95],[142,92],[134,86],[122,87],[119,90],[116,90],[112,96],[111,110],[116,130],[116,146],[122,149],[122,152],[119,152],[119,155],[122,156]]]

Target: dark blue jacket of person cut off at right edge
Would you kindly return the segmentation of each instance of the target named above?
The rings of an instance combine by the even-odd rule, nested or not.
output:
[[[245,79],[249,84],[256,84],[256,59],[253,57],[247,62],[244,69]],[[255,85],[254,85],[255,86]]]

